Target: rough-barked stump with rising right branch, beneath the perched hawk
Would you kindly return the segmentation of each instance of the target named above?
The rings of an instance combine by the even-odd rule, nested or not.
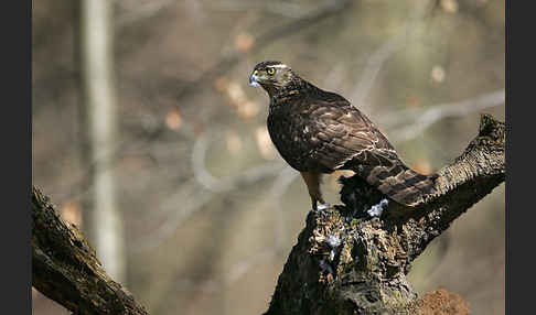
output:
[[[415,208],[388,203],[379,217],[367,210],[385,197],[357,176],[341,178],[344,206],[309,213],[265,314],[468,314],[442,291],[417,300],[406,275],[432,239],[505,181],[504,142],[504,123],[482,116],[479,134],[438,172],[436,195]]]

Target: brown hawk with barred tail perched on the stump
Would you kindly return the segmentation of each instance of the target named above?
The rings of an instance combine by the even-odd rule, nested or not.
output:
[[[270,98],[268,132],[283,160],[299,171],[312,208],[326,204],[321,175],[352,170],[390,199],[419,204],[433,194],[437,175],[424,175],[404,164],[387,138],[344,97],[322,90],[280,62],[255,66],[249,85]]]

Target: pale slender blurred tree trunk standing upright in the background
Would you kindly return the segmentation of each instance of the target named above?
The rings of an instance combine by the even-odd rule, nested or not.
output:
[[[126,281],[125,238],[116,202],[112,151],[116,145],[116,95],[114,85],[112,1],[81,2],[81,55],[90,197],[84,210],[84,227],[99,259],[117,281]]]

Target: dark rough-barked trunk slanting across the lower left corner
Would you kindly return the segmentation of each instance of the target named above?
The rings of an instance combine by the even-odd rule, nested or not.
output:
[[[74,314],[147,314],[111,280],[76,226],[32,189],[32,285]]]

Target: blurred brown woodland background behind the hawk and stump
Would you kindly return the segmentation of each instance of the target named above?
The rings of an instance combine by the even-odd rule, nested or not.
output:
[[[505,119],[504,1],[109,0],[109,15],[87,2],[32,2],[33,184],[150,314],[260,314],[304,226],[307,188],[247,85],[258,62],[345,96],[425,173],[462,152],[481,112]],[[110,58],[92,66],[99,18]],[[340,175],[324,180],[331,204]],[[502,185],[418,259],[419,294],[504,314],[504,217]],[[34,290],[33,314],[68,312]]]

